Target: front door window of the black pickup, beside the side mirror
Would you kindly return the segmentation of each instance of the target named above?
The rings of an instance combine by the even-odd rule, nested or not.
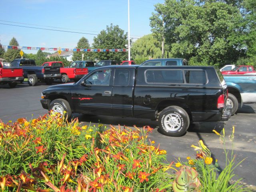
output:
[[[86,78],[85,82],[87,85],[109,86],[110,74],[110,69],[98,70]]]

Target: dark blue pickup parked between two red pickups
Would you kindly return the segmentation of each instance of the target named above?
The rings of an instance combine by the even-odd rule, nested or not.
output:
[[[14,59],[10,63],[10,67],[22,68],[24,78],[28,78],[28,84],[34,86],[38,81],[44,81],[50,85],[54,78],[60,77],[59,66],[36,66],[36,62],[32,59]]]

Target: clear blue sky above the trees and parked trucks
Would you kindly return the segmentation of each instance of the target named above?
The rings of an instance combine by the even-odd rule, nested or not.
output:
[[[149,18],[157,3],[164,0],[130,0],[131,38],[151,33]],[[2,45],[15,37],[20,46],[75,48],[83,36],[92,45],[95,34],[111,23],[128,32],[128,0],[0,0],[0,10]]]

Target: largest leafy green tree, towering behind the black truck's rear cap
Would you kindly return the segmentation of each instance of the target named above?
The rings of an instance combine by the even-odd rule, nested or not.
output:
[[[241,39],[245,23],[236,0],[230,4],[208,0],[166,0],[156,4],[150,24],[153,32],[161,32],[171,57],[181,57],[190,64],[223,66],[245,55]]]

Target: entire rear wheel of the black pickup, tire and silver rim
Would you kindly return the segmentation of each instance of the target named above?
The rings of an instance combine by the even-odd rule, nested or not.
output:
[[[190,124],[188,113],[179,106],[170,106],[162,110],[158,122],[160,132],[172,137],[182,136]]]

